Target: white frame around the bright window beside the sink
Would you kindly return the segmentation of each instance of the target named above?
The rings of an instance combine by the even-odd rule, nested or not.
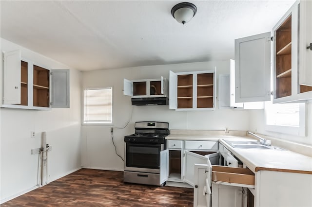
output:
[[[286,125],[270,125],[267,124],[267,110],[269,103],[265,103],[264,106],[264,114],[265,114],[265,130],[271,132],[277,132],[281,134],[287,135],[295,135],[300,137],[307,136],[306,130],[306,103],[298,103],[299,104],[299,126],[286,126]],[[273,104],[272,101],[270,104]]]

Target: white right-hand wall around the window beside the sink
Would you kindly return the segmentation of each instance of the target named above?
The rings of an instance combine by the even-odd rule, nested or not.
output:
[[[249,130],[253,132],[258,132],[260,134],[272,136],[274,138],[280,138],[283,140],[289,140],[296,143],[302,143],[307,145],[312,145],[312,103],[306,104],[306,137],[299,137],[293,135],[286,135],[277,132],[271,132],[265,130],[265,112],[264,109],[261,110],[250,110],[249,112]]]

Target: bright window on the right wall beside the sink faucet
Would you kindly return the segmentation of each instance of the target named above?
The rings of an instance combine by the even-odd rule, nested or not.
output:
[[[266,130],[306,136],[305,104],[272,104],[265,103]]]

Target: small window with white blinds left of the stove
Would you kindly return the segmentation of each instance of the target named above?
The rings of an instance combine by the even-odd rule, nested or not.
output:
[[[83,123],[112,123],[113,88],[85,88],[83,91]]]

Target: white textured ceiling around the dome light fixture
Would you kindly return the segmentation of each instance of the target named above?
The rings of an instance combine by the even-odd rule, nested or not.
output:
[[[192,0],[185,25],[176,0],[0,1],[0,35],[79,70],[234,58],[234,39],[269,32],[294,0]]]

